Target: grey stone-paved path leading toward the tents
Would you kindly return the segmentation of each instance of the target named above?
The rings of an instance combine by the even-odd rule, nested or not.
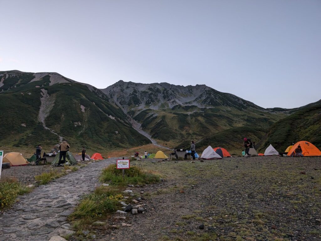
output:
[[[94,190],[100,171],[118,158],[109,158],[58,178],[20,196],[19,203],[0,216],[0,241],[49,240],[73,212],[82,195]]]

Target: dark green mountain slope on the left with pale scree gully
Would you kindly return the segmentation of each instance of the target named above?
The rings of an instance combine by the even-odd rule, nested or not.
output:
[[[93,86],[56,73],[3,71],[0,80],[1,145],[55,145],[62,138],[92,148],[150,143]]]

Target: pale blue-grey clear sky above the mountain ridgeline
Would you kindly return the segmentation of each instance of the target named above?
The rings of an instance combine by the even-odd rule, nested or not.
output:
[[[206,84],[264,108],[321,99],[321,1],[0,0],[0,71],[106,88]]]

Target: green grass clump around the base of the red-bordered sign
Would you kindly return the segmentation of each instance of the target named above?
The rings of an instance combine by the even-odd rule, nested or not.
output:
[[[109,165],[102,171],[101,182],[108,182],[113,185],[126,186],[128,184],[148,184],[160,181],[158,175],[153,171],[144,171],[137,166],[131,166],[125,170],[125,176],[122,176],[122,170],[117,169],[116,165]]]

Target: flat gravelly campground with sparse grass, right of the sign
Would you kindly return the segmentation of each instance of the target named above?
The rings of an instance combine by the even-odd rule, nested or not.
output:
[[[146,213],[127,216],[131,227],[109,221],[120,227],[96,230],[99,240],[321,240],[319,157],[131,165],[165,181],[132,188]]]

